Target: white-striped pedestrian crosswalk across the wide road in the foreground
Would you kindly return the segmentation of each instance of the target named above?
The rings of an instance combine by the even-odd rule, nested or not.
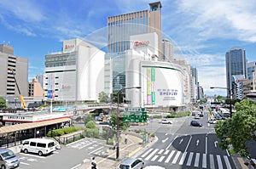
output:
[[[141,155],[144,161],[164,162],[170,165],[194,168],[231,169],[227,155],[211,155],[199,152],[182,152],[176,149],[148,149]]]

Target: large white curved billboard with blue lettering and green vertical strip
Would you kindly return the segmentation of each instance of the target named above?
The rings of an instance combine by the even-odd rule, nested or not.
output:
[[[143,84],[144,104],[154,105],[154,107],[183,105],[181,71],[169,66],[143,65]]]

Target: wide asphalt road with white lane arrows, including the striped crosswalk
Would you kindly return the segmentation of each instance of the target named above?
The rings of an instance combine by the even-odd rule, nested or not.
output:
[[[146,166],[165,168],[236,168],[228,151],[218,147],[219,140],[214,133],[214,125],[207,124],[204,113],[200,119],[203,127],[190,127],[194,116],[173,119],[173,124],[163,125],[153,121],[145,128],[152,130],[159,138],[157,143],[145,150],[139,157]]]

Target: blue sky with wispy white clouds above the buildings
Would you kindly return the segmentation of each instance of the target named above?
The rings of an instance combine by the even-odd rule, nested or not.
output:
[[[60,52],[63,40],[107,45],[108,17],[149,9],[149,0],[1,0],[0,44],[29,59],[29,81],[44,73],[44,56]],[[226,95],[225,53],[246,50],[256,60],[255,0],[162,0],[162,31],[198,70],[207,95]],[[94,35],[101,35],[97,38]]]

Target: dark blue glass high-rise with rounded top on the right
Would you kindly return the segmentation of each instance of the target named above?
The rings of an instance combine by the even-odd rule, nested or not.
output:
[[[230,48],[225,55],[227,95],[230,97],[236,93],[236,84],[232,84],[232,76],[243,76],[247,79],[247,59],[243,48]],[[235,95],[234,95],[235,96]]]

